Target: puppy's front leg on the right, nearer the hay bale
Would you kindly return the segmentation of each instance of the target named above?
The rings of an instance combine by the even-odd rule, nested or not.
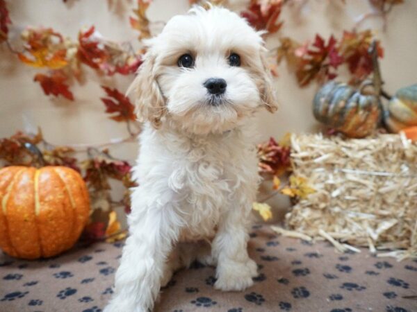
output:
[[[213,241],[213,257],[218,259],[216,289],[243,291],[254,283],[256,263],[247,254],[247,223],[250,207],[231,207],[219,225]]]

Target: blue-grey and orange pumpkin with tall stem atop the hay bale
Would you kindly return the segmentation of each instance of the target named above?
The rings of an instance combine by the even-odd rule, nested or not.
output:
[[[377,96],[362,94],[362,89],[335,81],[326,83],[313,99],[314,117],[347,137],[370,135],[382,119],[382,108]]]

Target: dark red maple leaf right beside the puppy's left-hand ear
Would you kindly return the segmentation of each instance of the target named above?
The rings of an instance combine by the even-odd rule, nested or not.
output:
[[[111,89],[104,86],[101,87],[106,91],[108,96],[108,98],[101,98],[101,101],[106,105],[106,113],[116,113],[110,117],[111,119],[114,121],[134,121],[136,119],[135,106],[131,103],[129,98],[117,91],[117,89]]]

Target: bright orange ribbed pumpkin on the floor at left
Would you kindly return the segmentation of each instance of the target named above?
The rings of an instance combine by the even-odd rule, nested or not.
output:
[[[90,214],[81,175],[63,166],[0,169],[0,207],[0,248],[24,259],[70,249]]]

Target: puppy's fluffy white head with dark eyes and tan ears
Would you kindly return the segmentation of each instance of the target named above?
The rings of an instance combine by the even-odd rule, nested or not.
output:
[[[263,40],[225,8],[195,7],[147,41],[131,89],[138,117],[195,134],[231,130],[259,109],[277,109]]]

